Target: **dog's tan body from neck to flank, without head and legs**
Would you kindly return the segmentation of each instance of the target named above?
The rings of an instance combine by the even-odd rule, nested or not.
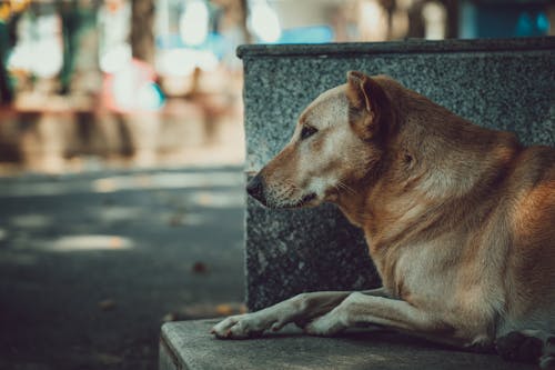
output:
[[[393,167],[370,202],[386,210],[374,212],[374,224],[397,230],[371,236],[384,286],[402,299],[443,287],[444,306],[452,299],[463,308],[455,327],[468,333],[555,332],[555,149],[523,147],[513,133],[472,124],[386,77],[374,81],[400,122],[391,148],[417,158],[408,179],[406,167]]]

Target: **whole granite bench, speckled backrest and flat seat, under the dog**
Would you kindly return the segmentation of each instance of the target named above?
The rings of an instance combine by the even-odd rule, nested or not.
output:
[[[477,124],[516,132],[526,144],[555,144],[555,38],[245,46],[238,53],[245,70],[246,177],[289,141],[307,103],[345,82],[347,70],[389,74]],[[249,200],[245,228],[251,310],[303,291],[380,284],[361,231],[333,206],[285,211]],[[164,326],[163,369],[521,367],[398,334],[218,341],[208,329],[206,321]]]

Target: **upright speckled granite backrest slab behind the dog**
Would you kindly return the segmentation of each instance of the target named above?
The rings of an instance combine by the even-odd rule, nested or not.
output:
[[[248,173],[290,140],[297,116],[349,70],[389,74],[471,121],[555,144],[555,38],[330,46],[248,46]],[[266,210],[250,201],[248,304],[377,283],[360,232],[333,207]]]

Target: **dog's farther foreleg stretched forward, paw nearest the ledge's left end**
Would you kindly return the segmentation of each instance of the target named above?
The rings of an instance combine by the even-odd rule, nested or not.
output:
[[[331,311],[351,293],[350,291],[302,293],[256,312],[229,317],[215,324],[211,332],[218,338],[242,339],[259,336],[269,329],[280,330],[290,322],[304,327],[314,318]],[[383,288],[364,293],[386,296]]]

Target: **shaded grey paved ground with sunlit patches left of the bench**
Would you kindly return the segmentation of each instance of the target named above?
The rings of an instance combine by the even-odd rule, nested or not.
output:
[[[0,179],[0,369],[155,369],[163,320],[236,309],[242,182],[238,167]]]

